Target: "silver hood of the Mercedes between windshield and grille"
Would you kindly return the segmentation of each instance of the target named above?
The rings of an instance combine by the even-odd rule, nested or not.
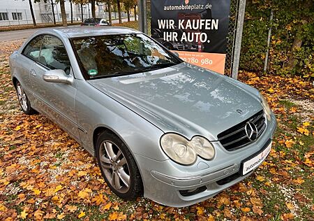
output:
[[[211,141],[262,110],[257,90],[186,63],[88,81],[164,132]]]

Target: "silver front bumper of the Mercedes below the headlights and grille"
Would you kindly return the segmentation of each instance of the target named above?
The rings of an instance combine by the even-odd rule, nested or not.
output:
[[[163,162],[135,155],[144,184],[144,197],[166,206],[183,207],[196,204],[239,183],[253,173],[241,176],[241,162],[266,148],[274,136],[274,115],[260,138],[232,152],[213,142],[216,157],[211,161],[197,159],[191,166],[181,166],[168,159]],[[262,163],[262,162],[261,162]]]

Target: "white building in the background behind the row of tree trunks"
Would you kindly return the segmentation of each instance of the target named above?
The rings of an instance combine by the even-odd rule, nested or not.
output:
[[[52,23],[52,2],[54,2],[54,15],[56,22],[62,22],[60,4],[55,3],[55,0],[47,0],[45,3],[40,0],[38,3],[33,3],[33,13],[36,23]],[[70,21],[70,2],[65,1],[66,18]],[[81,19],[81,6],[73,3],[73,22]],[[84,5],[83,18],[91,17],[91,6]],[[96,5],[96,17],[106,17],[104,12],[105,6]],[[33,24],[31,18],[31,10],[29,9],[29,0],[0,0],[0,26]]]

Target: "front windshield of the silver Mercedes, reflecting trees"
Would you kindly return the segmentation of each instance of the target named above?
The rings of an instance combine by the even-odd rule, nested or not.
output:
[[[181,63],[144,34],[88,36],[71,41],[87,79],[129,75]]]

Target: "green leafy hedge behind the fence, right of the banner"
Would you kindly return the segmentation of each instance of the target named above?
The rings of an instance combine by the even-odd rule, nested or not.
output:
[[[272,24],[269,22],[271,8],[274,10]],[[314,78],[313,19],[313,0],[248,0],[240,68],[262,73],[268,28],[272,26],[269,73]],[[301,47],[296,47],[296,43]]]

